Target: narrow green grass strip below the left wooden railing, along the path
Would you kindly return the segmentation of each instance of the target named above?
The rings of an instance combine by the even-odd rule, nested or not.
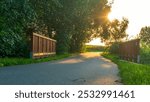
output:
[[[48,62],[52,60],[63,59],[72,56],[72,54],[54,55],[41,59],[29,59],[29,58],[0,58],[0,67],[12,66],[12,65],[22,65],[22,64],[32,64],[40,62]]]

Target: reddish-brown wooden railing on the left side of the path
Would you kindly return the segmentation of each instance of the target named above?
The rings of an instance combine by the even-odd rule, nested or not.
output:
[[[41,58],[56,54],[56,40],[33,33],[30,58]]]

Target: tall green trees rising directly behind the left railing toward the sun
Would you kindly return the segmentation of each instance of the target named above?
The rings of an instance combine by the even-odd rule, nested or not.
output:
[[[90,39],[89,31],[95,15],[100,17],[107,0],[31,0],[36,10],[39,27],[57,40],[57,53],[80,52]],[[39,29],[39,30],[40,30]]]

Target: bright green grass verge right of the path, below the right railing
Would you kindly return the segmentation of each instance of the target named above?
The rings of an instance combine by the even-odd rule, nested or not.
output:
[[[109,53],[102,54],[116,63],[120,70],[122,83],[125,85],[150,85],[150,65],[137,64],[120,60],[118,56]]]

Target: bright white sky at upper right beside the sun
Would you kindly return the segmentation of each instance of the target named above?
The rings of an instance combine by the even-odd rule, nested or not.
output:
[[[111,0],[109,0],[111,1]],[[125,17],[129,20],[127,34],[136,37],[142,27],[150,26],[150,0],[114,0],[110,20]]]

